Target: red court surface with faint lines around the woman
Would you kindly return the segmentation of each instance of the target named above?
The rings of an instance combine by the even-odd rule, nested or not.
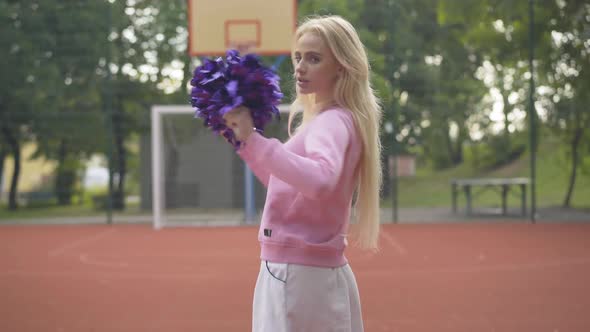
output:
[[[249,331],[256,231],[2,226],[0,331]],[[379,254],[347,254],[365,331],[590,331],[590,223],[382,234]]]

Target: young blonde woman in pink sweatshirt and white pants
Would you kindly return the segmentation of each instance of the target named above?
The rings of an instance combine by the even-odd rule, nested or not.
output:
[[[357,244],[376,249],[379,234],[381,108],[367,54],[349,22],[324,16],[299,26],[292,60],[303,119],[286,143],[255,132],[243,107],[225,116],[268,188],[252,330],[363,331],[344,249],[354,195]]]

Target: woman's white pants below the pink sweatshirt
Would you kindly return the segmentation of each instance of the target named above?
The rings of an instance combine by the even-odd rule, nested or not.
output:
[[[253,332],[362,332],[350,266],[322,268],[262,261],[254,289]]]

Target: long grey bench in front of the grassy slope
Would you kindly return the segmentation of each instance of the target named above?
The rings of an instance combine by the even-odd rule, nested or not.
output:
[[[479,186],[484,187],[483,190],[498,187],[502,196],[502,215],[507,214],[507,198],[511,187],[520,187],[521,198],[521,215],[526,216],[526,187],[529,184],[528,178],[472,178],[472,179],[452,179],[451,180],[451,194],[453,199],[453,213],[457,213],[457,197],[459,192],[465,193],[466,212],[471,215],[473,194],[472,188]]]

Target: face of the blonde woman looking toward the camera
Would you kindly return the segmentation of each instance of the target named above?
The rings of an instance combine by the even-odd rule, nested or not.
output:
[[[298,93],[315,93],[316,103],[334,98],[334,85],[342,67],[320,36],[305,33],[296,41],[293,65]]]

